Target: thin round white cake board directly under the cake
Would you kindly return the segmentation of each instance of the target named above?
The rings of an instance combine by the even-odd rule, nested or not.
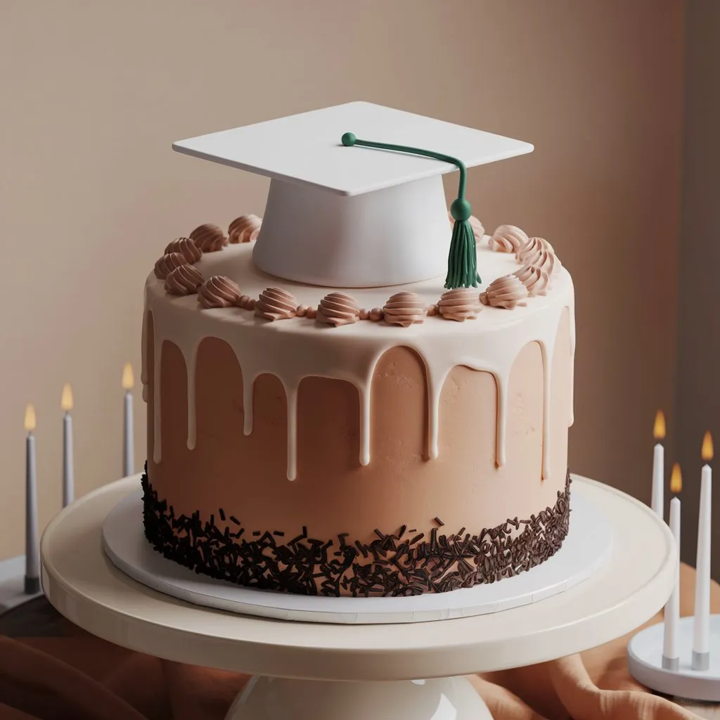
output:
[[[139,485],[139,481],[138,481]],[[148,588],[196,605],[281,620],[318,623],[391,624],[448,620],[495,613],[539,602],[587,580],[609,557],[613,531],[608,518],[583,493],[570,498],[570,531],[553,557],[502,582],[452,593],[399,598],[329,598],[242,588],[198,575],[153,550],[143,533],[138,488],[108,513],[103,548],[120,570]]]

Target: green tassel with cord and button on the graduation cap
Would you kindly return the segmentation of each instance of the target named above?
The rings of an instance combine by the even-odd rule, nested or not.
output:
[[[341,143],[347,148],[361,145],[364,148],[377,148],[377,150],[394,150],[397,153],[420,155],[433,160],[452,163],[460,171],[460,184],[457,198],[450,206],[450,214],[455,220],[450,240],[450,253],[448,255],[448,274],[445,278],[445,287],[449,290],[458,287],[477,287],[481,282],[477,274],[477,254],[475,250],[475,236],[470,226],[472,207],[465,199],[465,184],[467,182],[467,168],[458,158],[444,153],[433,153],[431,150],[410,148],[407,145],[391,145],[390,143],[372,143],[370,140],[359,140],[352,132],[346,132]]]

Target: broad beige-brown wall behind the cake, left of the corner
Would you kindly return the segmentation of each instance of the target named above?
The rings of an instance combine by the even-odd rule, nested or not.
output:
[[[349,7],[350,4],[348,3]],[[171,140],[367,99],[536,145],[478,168],[485,225],[546,235],[577,288],[573,469],[647,498],[675,363],[682,3],[676,0],[6,3],[0,23],[0,558],[22,551],[24,405],[41,524],[60,506],[60,389],[78,494],[120,473],[120,372],[145,275],[266,181]],[[143,404],[136,395],[138,466]]]

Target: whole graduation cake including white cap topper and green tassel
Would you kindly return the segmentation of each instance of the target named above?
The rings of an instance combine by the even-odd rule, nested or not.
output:
[[[150,544],[309,595],[441,593],[552,556],[572,279],[465,198],[467,167],[532,146],[356,102],[174,149],[271,183],[262,220],[199,218],[145,284]]]

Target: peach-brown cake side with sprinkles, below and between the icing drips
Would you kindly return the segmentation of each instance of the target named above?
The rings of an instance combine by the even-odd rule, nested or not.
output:
[[[562,543],[572,405],[569,308],[559,315],[550,348],[531,341],[518,352],[505,397],[495,374],[462,362],[451,369],[438,389],[434,453],[427,428],[437,391],[428,387],[426,359],[417,350],[392,347],[374,365],[372,457],[366,465],[359,461],[358,387],[304,377],[292,400],[292,481],[288,395],[281,380],[267,373],[251,379],[246,434],[248,393],[235,350],[219,338],[204,338],[189,383],[184,354],[166,340],[156,372],[156,322],[148,313],[145,527],[148,539],[177,562],[258,588],[402,595],[507,577],[542,562]],[[160,336],[166,335],[161,328]],[[307,342],[312,353],[312,338]],[[159,462],[153,460],[156,398]],[[498,467],[501,405],[504,462]]]

